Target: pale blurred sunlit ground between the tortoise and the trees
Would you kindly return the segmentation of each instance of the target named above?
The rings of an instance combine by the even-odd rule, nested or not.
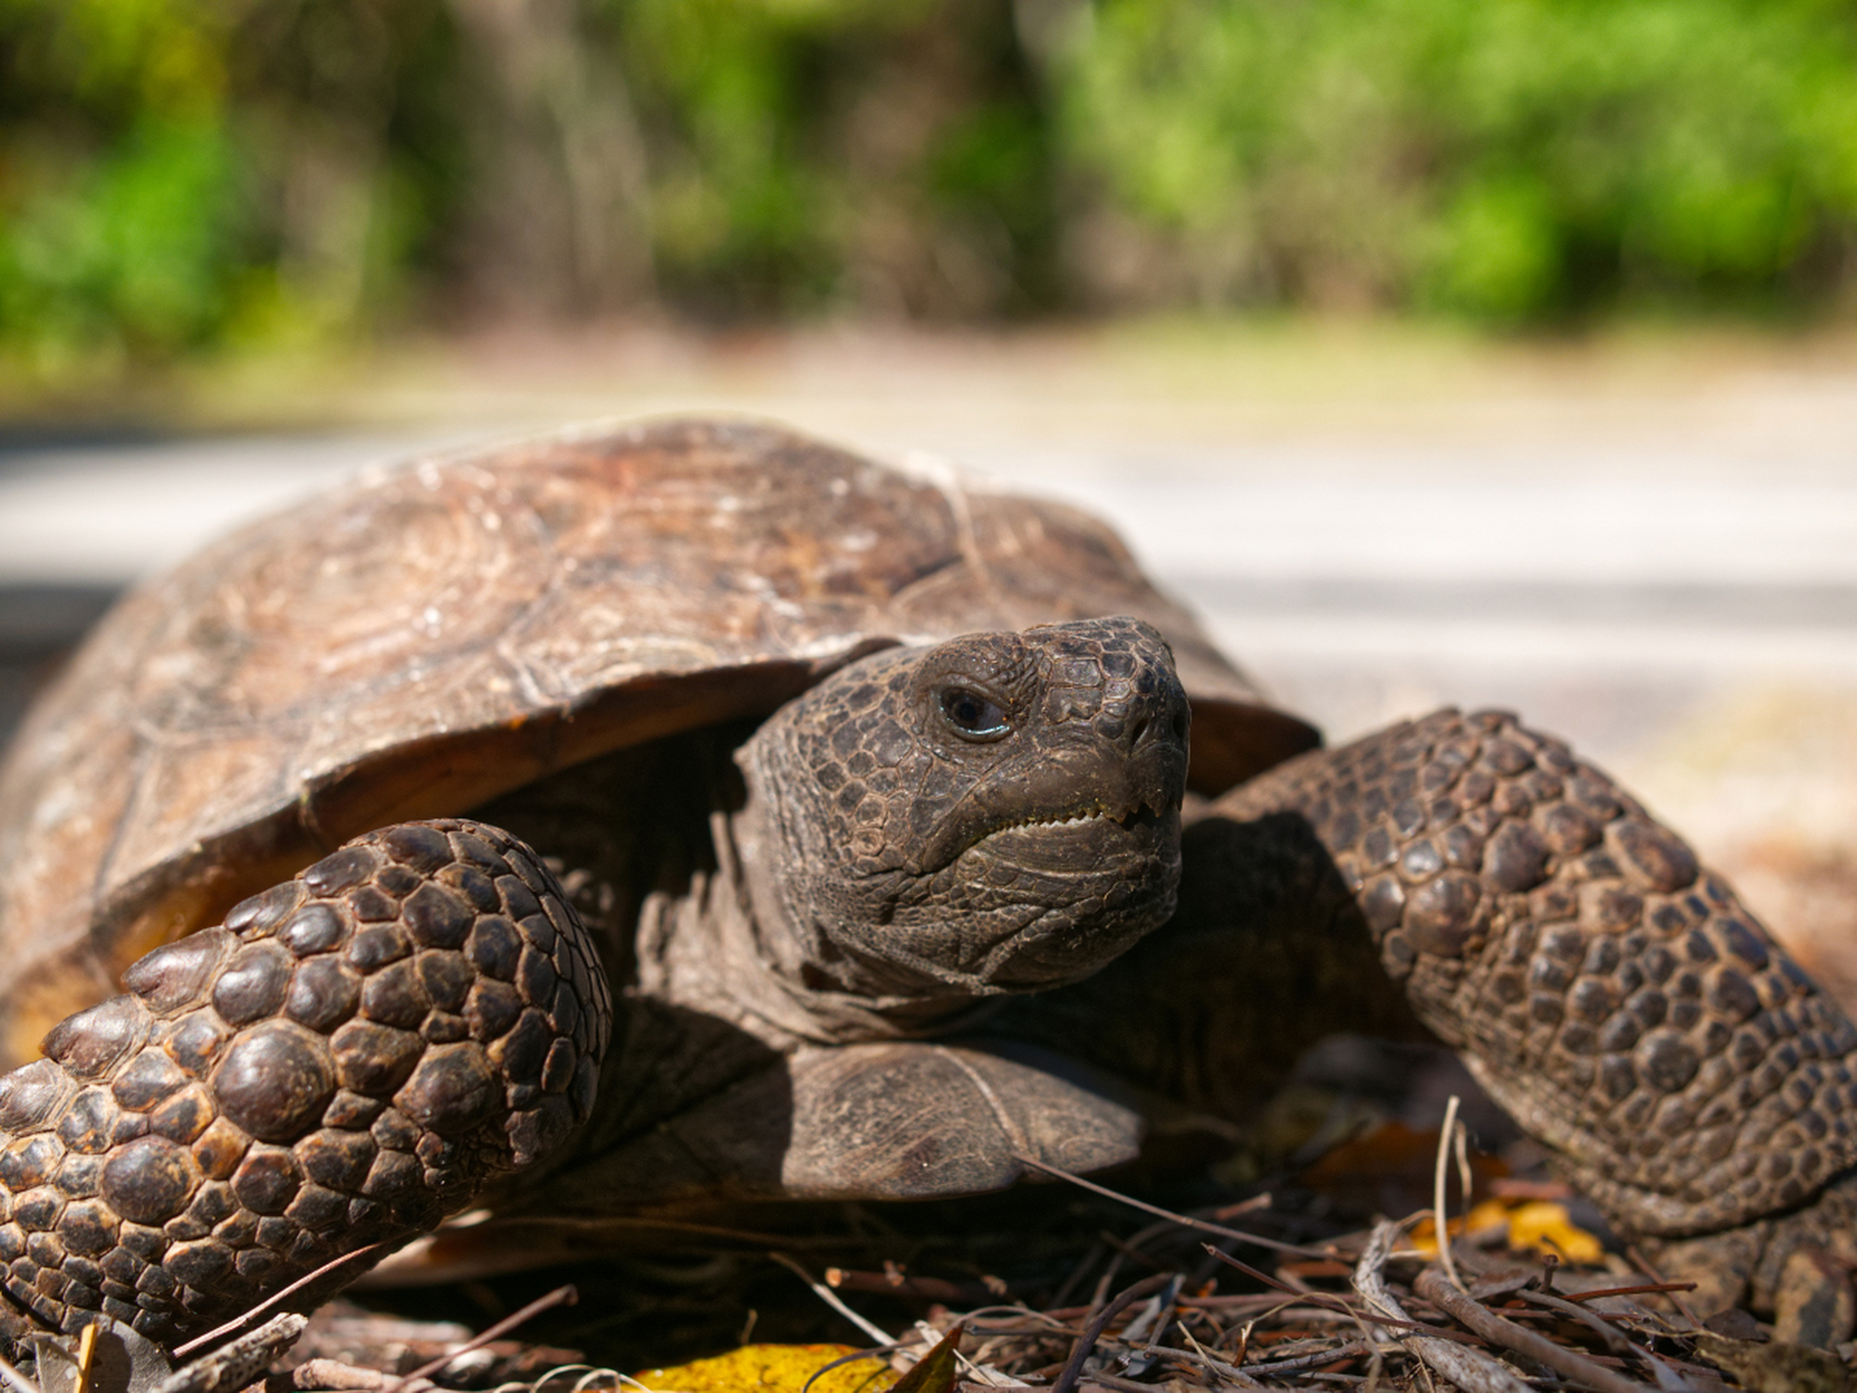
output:
[[[1331,739],[1521,710],[1857,1003],[1848,340],[635,332],[221,375],[178,435],[0,435],[0,721],[102,596],[243,516],[370,461],[665,410],[1094,507]]]

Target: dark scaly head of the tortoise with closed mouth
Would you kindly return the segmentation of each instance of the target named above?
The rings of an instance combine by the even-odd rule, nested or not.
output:
[[[971,997],[1088,977],[1174,912],[1187,695],[1135,618],[891,648],[737,756],[758,919],[806,986]]]

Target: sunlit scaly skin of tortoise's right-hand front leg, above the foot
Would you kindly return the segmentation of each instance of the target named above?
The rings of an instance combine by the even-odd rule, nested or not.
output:
[[[1441,711],[1216,812],[1309,821],[1419,1018],[1627,1231],[1744,1224],[1857,1159],[1857,1029],[1560,741]]]

